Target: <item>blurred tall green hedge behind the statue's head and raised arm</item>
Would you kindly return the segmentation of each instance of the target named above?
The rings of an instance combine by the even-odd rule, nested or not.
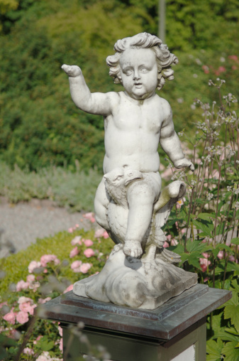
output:
[[[222,74],[238,93],[238,4],[169,1],[167,21],[167,44],[179,65],[160,95],[179,131],[199,118],[190,106],[196,96],[209,101],[211,77]],[[157,33],[157,1],[21,0],[0,23],[0,158],[33,170],[75,160],[82,169],[101,169],[103,119],[77,110],[60,66],[81,65],[92,92],[121,90],[107,74],[106,56],[118,38]]]

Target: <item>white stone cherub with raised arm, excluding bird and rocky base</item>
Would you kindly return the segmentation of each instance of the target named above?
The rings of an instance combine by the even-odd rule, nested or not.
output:
[[[159,143],[176,168],[194,171],[194,165],[184,157],[169,103],[156,94],[165,80],[174,79],[171,65],[178,63],[177,57],[149,33],[118,40],[114,50],[116,53],[106,63],[109,75],[116,84],[123,85],[124,91],[91,93],[78,66],[62,65],[62,69],[69,76],[74,104],[84,112],[104,117],[105,176],[96,191],[96,221],[108,230],[114,242],[122,242],[124,257],[141,259],[161,192]],[[112,181],[113,174],[120,180],[126,173],[133,173],[135,178],[126,181],[125,197],[117,203],[113,200],[117,189],[113,193],[109,189],[109,175]],[[119,224],[111,224],[112,203],[126,205],[124,230]],[[121,235],[116,235],[117,227],[123,230]]]

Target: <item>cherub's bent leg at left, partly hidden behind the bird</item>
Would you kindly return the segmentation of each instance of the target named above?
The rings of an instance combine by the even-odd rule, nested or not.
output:
[[[94,198],[94,212],[96,216],[96,222],[105,230],[109,230],[109,223],[106,217],[106,210],[109,205],[109,195],[106,193],[106,186],[104,184],[104,178],[96,190],[96,197]]]

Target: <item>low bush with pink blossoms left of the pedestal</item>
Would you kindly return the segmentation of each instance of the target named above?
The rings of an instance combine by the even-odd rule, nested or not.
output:
[[[90,222],[92,218],[93,215]],[[33,316],[34,309],[38,306],[40,310],[41,304],[72,290],[74,281],[98,272],[113,246],[102,236],[95,238],[94,230],[73,232],[60,232],[54,237],[42,239],[37,245],[28,247],[27,251],[6,259],[6,274],[1,281],[3,287],[0,293],[0,333],[4,337],[0,339],[0,355],[4,355],[1,360],[62,360],[62,329],[57,323]],[[105,231],[100,232],[103,235]],[[59,242],[61,247],[55,247]],[[60,252],[62,247],[64,254]],[[45,254],[44,249],[48,252],[54,250],[55,254]],[[32,257],[34,254],[34,259],[27,262],[27,254]],[[21,275],[13,264],[23,268]],[[7,292],[9,286],[10,293]],[[1,350],[1,343],[6,350],[5,347]]]

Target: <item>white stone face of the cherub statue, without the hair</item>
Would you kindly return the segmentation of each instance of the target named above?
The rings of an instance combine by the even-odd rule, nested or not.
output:
[[[126,49],[120,65],[123,87],[130,97],[143,100],[155,93],[157,63],[152,49]]]

